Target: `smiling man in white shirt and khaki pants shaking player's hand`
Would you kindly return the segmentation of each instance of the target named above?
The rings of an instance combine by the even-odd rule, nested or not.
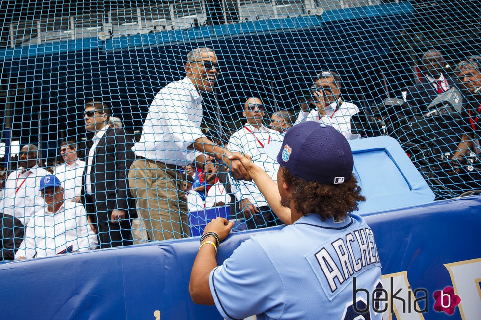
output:
[[[231,168],[236,179],[249,175],[231,151],[202,133],[202,93],[212,92],[220,72],[213,49],[196,48],[187,55],[186,77],[169,83],[155,96],[145,119],[129,185],[150,240],[189,236],[188,208],[177,170],[191,163],[196,151],[213,154]],[[198,154],[197,154],[198,155]]]

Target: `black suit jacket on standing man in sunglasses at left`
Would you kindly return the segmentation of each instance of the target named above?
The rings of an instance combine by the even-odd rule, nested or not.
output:
[[[107,129],[95,148],[90,171],[91,195],[85,195],[85,166],[81,197],[87,214],[95,218],[94,221],[108,222],[115,209],[126,210],[130,218],[137,217],[135,199],[128,189],[129,168],[135,159],[132,146],[123,129]]]

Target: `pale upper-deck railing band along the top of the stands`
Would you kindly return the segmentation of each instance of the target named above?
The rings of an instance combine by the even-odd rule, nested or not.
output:
[[[10,25],[10,46],[67,39],[122,37],[163,30],[255,20],[321,15],[324,11],[379,4],[377,0],[204,0],[41,19]],[[218,12],[221,12],[220,18]],[[213,19],[213,11],[216,18]]]

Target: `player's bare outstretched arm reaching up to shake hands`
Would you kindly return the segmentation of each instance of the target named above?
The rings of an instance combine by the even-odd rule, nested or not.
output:
[[[284,224],[292,224],[291,222],[291,209],[283,207],[281,205],[281,195],[277,188],[277,183],[264,171],[262,168],[256,166],[250,160],[249,155],[243,155],[240,153],[233,153],[231,160],[240,160],[247,173],[255,182],[262,195],[266,198],[272,211]]]

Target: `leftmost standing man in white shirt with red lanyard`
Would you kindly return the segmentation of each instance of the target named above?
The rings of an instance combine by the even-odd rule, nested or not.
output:
[[[49,174],[38,167],[38,148],[25,145],[20,149],[19,168],[8,175],[5,192],[0,202],[0,236],[2,260],[13,260],[24,238],[24,226],[35,212],[43,206],[40,197],[40,179]]]

